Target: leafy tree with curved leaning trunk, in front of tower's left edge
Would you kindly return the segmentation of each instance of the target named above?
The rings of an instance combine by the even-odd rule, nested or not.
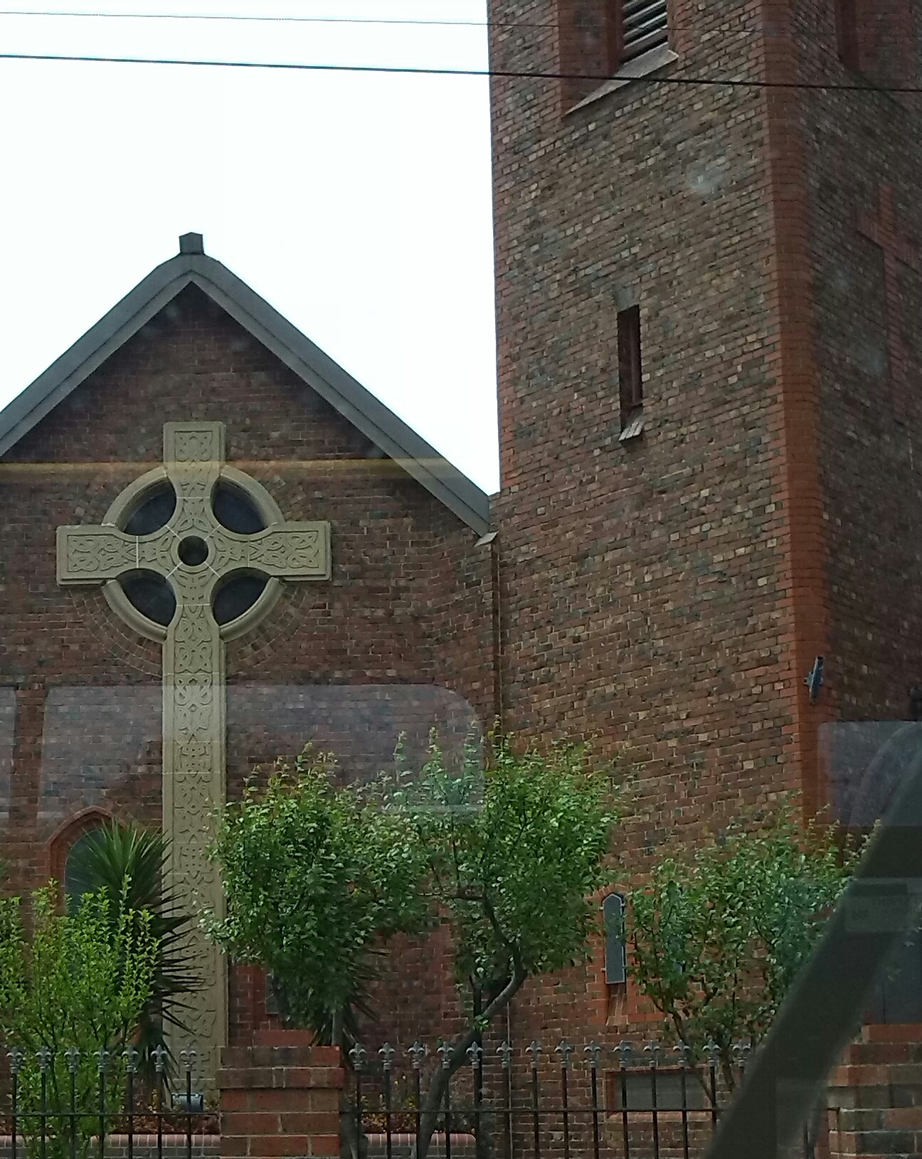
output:
[[[427,857],[426,887],[447,913],[466,1026],[426,1089],[420,1154],[467,1050],[528,978],[585,960],[598,925],[590,895],[605,863],[621,796],[614,768],[561,744],[515,752],[500,741],[485,767],[460,775],[432,746],[417,778],[398,771],[381,800],[405,816]]]

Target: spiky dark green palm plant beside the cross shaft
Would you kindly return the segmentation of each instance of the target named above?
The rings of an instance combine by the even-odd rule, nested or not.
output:
[[[180,910],[175,897],[163,890],[168,853],[169,838],[160,831],[111,821],[82,838],[67,861],[69,904],[83,894],[104,890],[115,925],[123,897],[126,907],[152,914],[151,933],[160,949],[153,992],[141,1014],[136,1043],[152,1078],[153,1051],[158,1047],[168,1049],[164,1027],[186,1030],[183,1012],[189,996],[202,985],[190,967],[185,938],[195,919]],[[167,1066],[168,1072],[175,1071],[175,1059],[168,1057]]]

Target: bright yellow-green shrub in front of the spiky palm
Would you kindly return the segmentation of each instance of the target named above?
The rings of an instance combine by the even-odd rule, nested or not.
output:
[[[53,882],[31,895],[31,933],[22,899],[0,898],[0,1035],[22,1051],[19,1127],[30,1154],[39,1153],[44,1060],[45,1147],[64,1159],[72,1142],[78,1154],[88,1153],[102,1092],[109,1111],[124,1108],[124,1051],[134,1049],[159,946],[149,914],[124,898],[116,916],[104,891],[85,895],[73,913],[58,912],[57,896]],[[100,1050],[108,1052],[102,1080]],[[79,1111],[73,1121],[72,1079]]]

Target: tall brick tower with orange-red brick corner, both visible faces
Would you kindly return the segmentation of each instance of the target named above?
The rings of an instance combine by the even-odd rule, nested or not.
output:
[[[920,13],[490,7],[505,708],[630,743],[642,866],[778,790],[810,812],[820,726],[922,679],[922,123],[883,90]],[[598,1035],[610,998],[518,1016]]]

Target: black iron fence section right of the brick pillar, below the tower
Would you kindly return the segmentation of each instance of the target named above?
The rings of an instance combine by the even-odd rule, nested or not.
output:
[[[694,1058],[657,1042],[503,1042],[495,1052],[475,1043],[462,1066],[446,1045],[385,1043],[376,1055],[350,1052],[342,1110],[344,1142],[367,1159],[695,1159],[745,1078],[749,1048],[734,1048],[730,1065],[712,1044]],[[805,1130],[805,1159],[817,1136]]]

